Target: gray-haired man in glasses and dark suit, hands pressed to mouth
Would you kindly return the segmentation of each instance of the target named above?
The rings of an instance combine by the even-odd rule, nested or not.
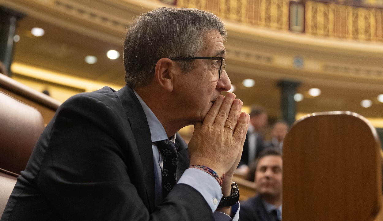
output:
[[[61,105],[1,220],[237,220],[249,115],[221,95],[226,35],[206,11],[139,16],[124,40],[126,86]],[[187,146],[176,133],[191,124]]]

